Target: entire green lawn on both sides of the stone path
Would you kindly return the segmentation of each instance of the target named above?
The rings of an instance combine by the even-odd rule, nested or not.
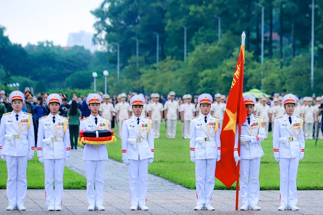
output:
[[[117,136],[117,129],[116,136]],[[194,163],[190,162],[189,140],[181,137],[181,122],[178,121],[177,137],[167,139],[165,122],[161,124],[160,138],[155,139],[155,159],[149,165],[149,173],[169,179],[185,187],[195,189]],[[108,146],[109,157],[122,162],[121,139],[117,138]],[[279,164],[274,160],[271,133],[268,139],[262,142],[265,155],[261,158],[260,189],[279,190]],[[323,189],[323,140],[306,140],[305,156],[298,168],[297,186],[299,190]],[[0,162],[0,189],[6,188],[7,167]],[[36,155],[28,162],[28,188],[44,188],[43,165],[37,161]],[[86,180],[83,176],[65,168],[65,189],[86,189]],[[216,179],[216,189],[228,189]],[[235,184],[230,188],[235,189]]]

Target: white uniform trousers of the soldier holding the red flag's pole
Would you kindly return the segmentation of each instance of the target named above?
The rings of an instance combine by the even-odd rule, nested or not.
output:
[[[257,205],[259,200],[260,158],[241,159],[240,161],[240,197],[241,205]]]

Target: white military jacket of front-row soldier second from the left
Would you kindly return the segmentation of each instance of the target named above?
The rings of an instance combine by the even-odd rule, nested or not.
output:
[[[37,157],[65,159],[71,156],[71,141],[68,119],[59,114],[41,117],[38,125]]]

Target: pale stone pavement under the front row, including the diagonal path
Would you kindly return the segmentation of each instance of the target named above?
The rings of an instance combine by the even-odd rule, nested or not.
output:
[[[66,166],[85,176],[83,150],[73,150]],[[7,211],[6,190],[0,190],[0,214],[323,214],[323,190],[298,191],[298,211],[278,211],[279,191],[260,191],[261,210],[235,210],[235,191],[214,190],[215,211],[194,211],[195,190],[187,189],[163,178],[148,175],[148,211],[131,211],[127,166],[107,160],[105,166],[104,211],[88,211],[86,190],[64,190],[63,210],[47,211],[44,190],[27,190],[26,211]]]

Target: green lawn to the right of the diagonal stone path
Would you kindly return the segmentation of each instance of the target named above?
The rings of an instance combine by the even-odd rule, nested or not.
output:
[[[116,129],[117,131],[117,129]],[[116,132],[117,133],[117,132]],[[261,144],[264,156],[260,166],[260,189],[279,190],[279,164],[274,159],[272,133]],[[298,168],[297,187],[300,190],[323,189],[323,140],[306,140],[305,156]],[[108,147],[109,157],[122,162],[121,139]],[[165,122],[161,124],[160,138],[155,139],[155,159],[149,173],[195,189],[195,167],[190,162],[189,139],[181,135],[181,122],[177,124],[175,139],[166,138]],[[230,189],[235,189],[235,184]],[[216,189],[228,189],[216,179]]]

